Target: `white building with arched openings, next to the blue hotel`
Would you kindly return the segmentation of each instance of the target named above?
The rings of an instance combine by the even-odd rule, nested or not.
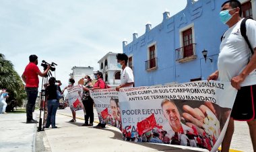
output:
[[[103,79],[110,87],[117,87],[121,82],[121,69],[117,67],[116,55],[117,53],[108,52],[98,61],[99,71],[103,73]]]

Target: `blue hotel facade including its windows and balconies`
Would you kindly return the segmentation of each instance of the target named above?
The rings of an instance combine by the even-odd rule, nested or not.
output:
[[[219,17],[224,1],[187,0],[187,6],[179,13],[170,15],[166,11],[156,27],[146,24],[145,34],[138,37],[133,33],[129,44],[123,41],[135,86],[207,79],[216,71],[220,37],[228,29]],[[245,17],[256,16],[255,0],[241,0],[241,3]]]

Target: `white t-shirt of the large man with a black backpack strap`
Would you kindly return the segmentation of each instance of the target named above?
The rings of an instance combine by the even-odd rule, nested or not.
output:
[[[239,75],[249,62],[252,56],[251,50],[241,35],[240,26],[242,20],[229,28],[220,44],[220,54],[218,57],[218,71],[220,81],[230,82],[232,77]],[[256,21],[247,20],[247,37],[252,48],[256,48]],[[252,71],[246,78],[241,87],[256,84],[256,72]]]

